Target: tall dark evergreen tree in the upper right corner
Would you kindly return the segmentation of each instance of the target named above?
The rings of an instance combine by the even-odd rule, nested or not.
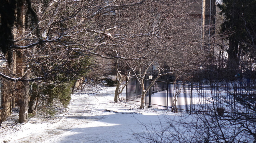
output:
[[[224,22],[221,32],[227,32],[228,68],[237,70],[241,56],[255,55],[256,1],[222,0],[218,4]]]

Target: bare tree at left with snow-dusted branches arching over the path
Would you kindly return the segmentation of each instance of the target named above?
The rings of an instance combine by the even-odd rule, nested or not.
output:
[[[109,51],[102,49],[102,46],[115,46],[110,31],[116,29],[116,26],[102,25],[99,22],[102,19],[99,17],[142,2],[118,1],[110,5],[97,0],[24,1],[24,11],[22,11],[24,13],[21,16],[26,15],[29,9],[36,16],[28,13],[27,19],[37,18],[37,22],[19,23],[19,27],[14,32],[18,36],[8,48],[17,53],[19,64],[16,72],[10,70],[9,74],[0,73],[0,76],[16,83],[24,82],[24,85],[33,81],[54,84],[83,76],[93,67],[92,56],[129,59],[129,57],[102,54],[104,51]],[[29,95],[25,93],[20,95],[21,101],[29,99]],[[24,110],[20,112],[20,116],[24,117],[20,122],[26,122],[27,103],[24,102]]]

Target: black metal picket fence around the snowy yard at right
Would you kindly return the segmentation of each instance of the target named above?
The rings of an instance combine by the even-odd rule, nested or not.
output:
[[[251,81],[252,82],[252,81]],[[255,82],[253,82],[255,83]],[[150,80],[145,79],[145,88]],[[151,105],[183,113],[217,113],[225,115],[256,115],[256,85],[240,81],[156,81],[151,88]],[[126,89],[126,101],[140,104],[141,85],[136,77],[130,77]],[[148,105],[147,92],[145,105]],[[249,104],[249,105],[248,105]]]

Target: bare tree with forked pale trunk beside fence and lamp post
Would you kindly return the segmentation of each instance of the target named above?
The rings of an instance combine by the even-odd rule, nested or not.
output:
[[[188,74],[199,69],[207,61],[207,52],[200,48],[202,39],[198,21],[190,17],[188,7],[193,1],[170,1],[165,4],[161,1],[152,1],[154,5],[145,4],[145,11],[137,17],[144,24],[137,28],[140,31],[153,33],[150,36],[139,37],[140,47],[136,47],[139,54],[146,55],[143,59],[130,62],[141,85],[141,107],[144,107],[144,97],[154,82],[161,76],[174,72]],[[150,11],[150,14],[146,14]],[[143,17],[144,16],[144,17]],[[153,69],[153,66],[156,67]],[[152,84],[144,86],[146,73],[158,73]]]

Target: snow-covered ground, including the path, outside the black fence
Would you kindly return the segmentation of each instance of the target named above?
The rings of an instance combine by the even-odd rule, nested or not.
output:
[[[145,132],[140,122],[154,127],[164,122],[165,115],[179,118],[178,113],[168,110],[139,109],[139,105],[125,101],[115,103],[115,88],[100,88],[76,91],[69,112],[46,121],[35,117],[27,124],[18,124],[18,113],[13,113],[0,127],[0,142],[136,143],[138,140],[133,133]]]

